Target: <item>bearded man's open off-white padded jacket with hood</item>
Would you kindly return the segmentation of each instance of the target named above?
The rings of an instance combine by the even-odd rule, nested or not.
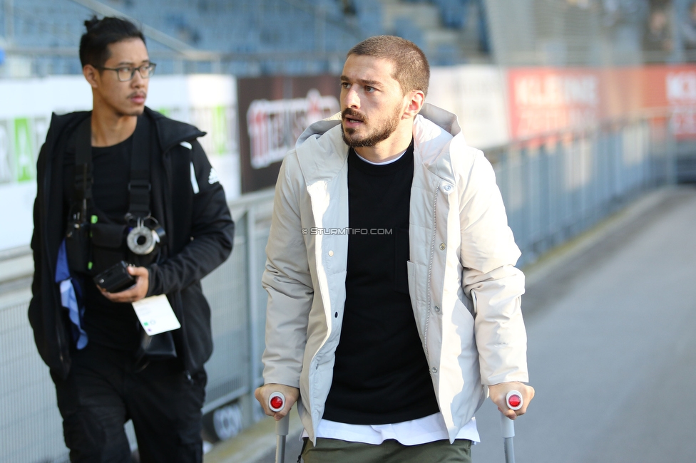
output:
[[[300,388],[298,410],[313,442],[343,319],[347,155],[340,115],[310,125],[288,152],[262,277],[268,292],[263,377]],[[414,120],[414,163],[409,290],[454,441],[481,406],[486,385],[528,381],[524,276],[514,267],[520,251],[493,168],[466,145],[454,115],[424,105]]]

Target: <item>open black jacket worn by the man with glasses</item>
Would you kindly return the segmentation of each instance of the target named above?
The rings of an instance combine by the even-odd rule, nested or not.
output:
[[[145,115],[154,122],[159,144],[153,150],[150,170],[153,215],[164,218],[167,232],[160,264],[149,266],[148,296],[168,296],[181,323],[181,329],[172,332],[177,354],[184,368],[193,372],[203,367],[213,351],[210,306],[201,291],[200,279],[230,255],[235,224],[225,192],[217,177],[211,175],[210,162],[196,140],[205,132],[149,108],[145,108]],[[75,137],[71,135],[76,127],[90,116],[90,112],[53,114],[37,163],[29,322],[41,358],[52,373],[62,378],[70,370],[73,343],[67,313],[61,307],[60,288],[54,283],[58,247],[65,236],[67,219],[63,212],[63,157],[66,150],[74,150]],[[188,142],[191,148],[181,142]],[[192,162],[198,193],[194,193],[191,181]]]

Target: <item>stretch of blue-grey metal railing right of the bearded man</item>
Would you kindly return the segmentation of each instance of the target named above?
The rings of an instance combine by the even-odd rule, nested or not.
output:
[[[596,224],[635,195],[675,182],[666,110],[563,130],[491,150],[518,266]]]

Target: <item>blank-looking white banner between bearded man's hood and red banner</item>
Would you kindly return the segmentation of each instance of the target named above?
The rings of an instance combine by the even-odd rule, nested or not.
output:
[[[496,66],[434,67],[426,102],[456,114],[466,143],[485,150],[510,141],[505,89]]]

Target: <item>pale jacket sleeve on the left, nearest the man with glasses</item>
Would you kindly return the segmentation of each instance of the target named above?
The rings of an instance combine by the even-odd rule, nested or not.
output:
[[[280,167],[273,218],[266,246],[262,285],[268,292],[266,349],[262,356],[266,384],[300,387],[307,321],[314,291],[300,221],[300,195],[306,194],[297,155]]]

